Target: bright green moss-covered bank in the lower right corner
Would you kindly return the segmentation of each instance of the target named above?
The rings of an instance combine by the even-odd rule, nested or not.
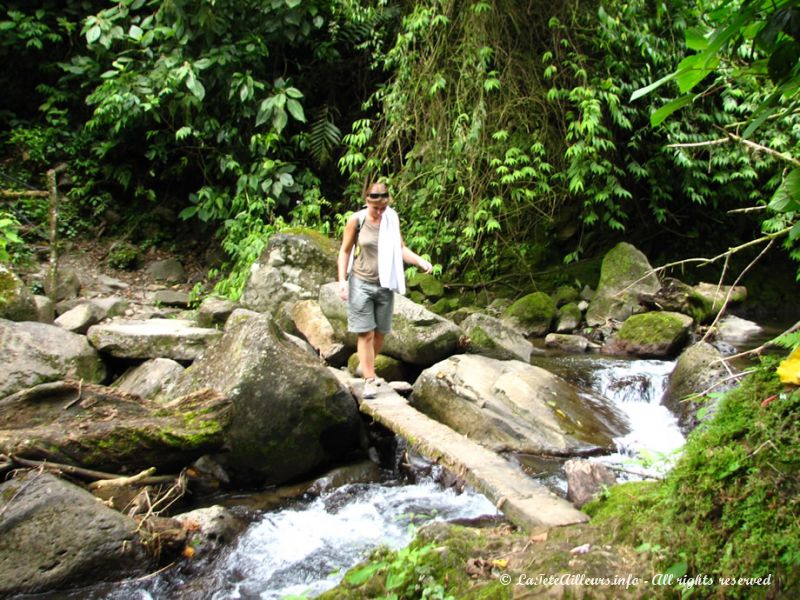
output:
[[[676,581],[705,576],[704,585],[684,586],[684,597],[800,591],[800,390],[784,388],[775,366],[763,359],[722,399],[664,482],[617,486],[586,507],[595,524],[639,545]]]

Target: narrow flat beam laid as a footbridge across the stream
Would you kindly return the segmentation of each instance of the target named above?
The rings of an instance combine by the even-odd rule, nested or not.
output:
[[[496,452],[419,412],[389,385],[364,400],[363,384],[354,380],[361,412],[404,438],[420,454],[463,478],[509,521],[525,531],[585,523],[589,517],[526,475]]]

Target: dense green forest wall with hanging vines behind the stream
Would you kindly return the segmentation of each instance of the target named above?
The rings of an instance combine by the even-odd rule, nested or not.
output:
[[[462,285],[591,283],[623,238],[654,264],[762,239],[741,266],[774,238],[793,280],[799,34],[790,0],[6,0],[0,187],[65,164],[65,236],[174,244],[179,217],[234,298],[374,176]],[[0,258],[45,204],[3,201]]]

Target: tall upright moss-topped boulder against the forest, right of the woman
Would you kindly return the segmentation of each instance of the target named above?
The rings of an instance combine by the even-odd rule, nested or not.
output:
[[[600,267],[600,282],[586,311],[591,327],[608,321],[624,321],[639,312],[640,297],[652,296],[661,288],[647,257],[627,242],[608,251]]]

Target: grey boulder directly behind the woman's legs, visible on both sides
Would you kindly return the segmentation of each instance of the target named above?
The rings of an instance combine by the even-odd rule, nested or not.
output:
[[[320,288],[319,305],[336,337],[348,348],[355,348],[356,336],[347,332],[347,304],[339,297],[336,283]],[[426,367],[457,352],[462,335],[461,328],[452,321],[395,294],[392,332],[386,336],[381,352]]]

